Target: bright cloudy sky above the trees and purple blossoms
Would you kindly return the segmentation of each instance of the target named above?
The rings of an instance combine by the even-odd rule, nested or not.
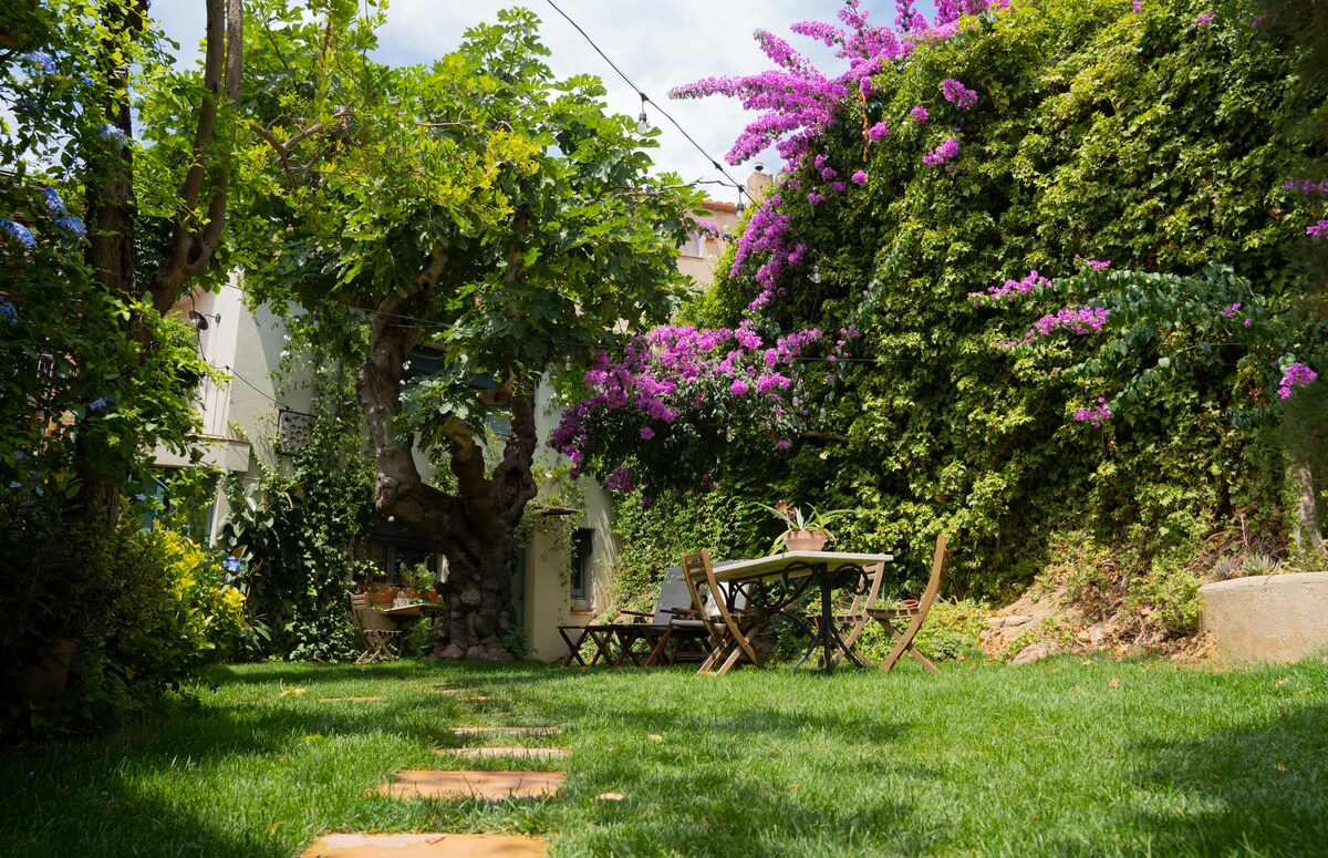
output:
[[[837,0],[552,0],[580,25],[651,101],[659,104],[699,145],[699,151],[659,109],[648,105],[652,125],[661,130],[660,147],[652,158],[661,170],[677,173],[688,182],[728,181],[712,166],[717,161],[728,177],[745,182],[757,163],[777,173],[781,162],[773,151],[762,153],[738,166],[725,155],[742,128],[754,114],[744,113],[737,101],[710,96],[703,100],[673,101],[668,90],[704,77],[754,74],[772,68],[752,37],[757,28],[788,39],[795,50],[810,57],[822,72],[838,74],[847,64],[810,39],[789,32],[795,21],[834,21],[842,8]],[[392,0],[386,25],[380,31],[377,57],[392,65],[428,64],[453,50],[466,28],[493,23],[511,0]],[[552,52],[548,65],[558,77],[591,73],[608,89],[607,105],[614,113],[636,117],[641,100],[636,89],[600,57],[587,40],[559,15],[548,0],[525,0],[540,19],[540,37]],[[892,0],[862,0],[871,21],[891,24]],[[932,3],[920,0],[918,9],[931,16]],[[178,41],[186,61],[197,58],[195,45],[203,33],[203,4],[199,0],[155,0],[153,16]],[[708,186],[708,195],[721,202],[738,202],[732,187]]]

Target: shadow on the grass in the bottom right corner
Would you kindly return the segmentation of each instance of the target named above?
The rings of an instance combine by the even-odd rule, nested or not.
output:
[[[1137,754],[1127,823],[1154,854],[1328,854],[1328,701]]]

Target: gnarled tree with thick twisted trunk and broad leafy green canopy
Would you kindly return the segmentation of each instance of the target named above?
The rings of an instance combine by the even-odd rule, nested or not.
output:
[[[649,138],[604,112],[598,80],[552,77],[530,12],[501,12],[410,68],[368,56],[378,17],[359,3],[316,20],[267,3],[256,17],[247,288],[363,311],[376,505],[448,557],[440,651],[499,656],[515,624],[513,529],[537,490],[535,384],[587,365],[615,329],[668,317],[696,195],[648,174]],[[409,373],[418,348],[444,368]],[[478,396],[477,377],[497,388]],[[511,430],[490,473],[493,408]],[[421,475],[416,438],[454,494]]]

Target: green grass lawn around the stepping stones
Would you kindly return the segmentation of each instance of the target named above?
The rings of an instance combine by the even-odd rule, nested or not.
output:
[[[526,833],[555,855],[1328,854],[1324,661],[703,677],[417,660],[214,681],[198,707],[0,760],[0,854],[295,855],[345,830]],[[452,762],[566,769],[563,792],[371,794],[449,768],[436,748],[495,744],[449,732],[467,724],[562,727],[519,741],[564,760]]]

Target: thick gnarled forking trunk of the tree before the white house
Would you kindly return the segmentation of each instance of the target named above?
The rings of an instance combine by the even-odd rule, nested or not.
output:
[[[434,655],[510,659],[503,640],[518,624],[511,599],[514,531],[535,497],[534,402],[529,394],[511,398],[511,436],[493,477],[485,473],[474,433],[457,418],[448,421],[444,432],[452,441],[457,495],[425,483],[414,462],[413,440],[394,425],[401,412],[402,367],[420,341],[413,319],[425,315],[424,304],[445,267],[446,259],[436,255],[408,295],[390,295],[378,304],[369,356],[355,371],[356,394],[377,464],[374,506],[448,558],[448,580],[441,588],[446,610],[436,623]]]

